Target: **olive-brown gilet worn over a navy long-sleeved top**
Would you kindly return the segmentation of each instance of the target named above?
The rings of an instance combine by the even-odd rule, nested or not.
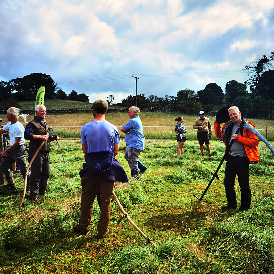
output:
[[[48,124],[47,121],[44,120],[46,124],[46,128],[44,127],[43,123],[39,121],[39,117],[34,117],[33,120],[30,121],[35,126],[35,130],[33,132],[34,135],[46,135],[48,132]],[[29,143],[29,151],[36,152],[40,144],[43,142],[41,139],[30,140]],[[41,152],[48,152],[50,149],[50,138],[44,143],[43,147],[40,149]]]

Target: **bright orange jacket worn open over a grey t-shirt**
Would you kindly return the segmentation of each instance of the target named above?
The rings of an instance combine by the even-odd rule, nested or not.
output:
[[[251,127],[255,128],[254,124],[252,124],[251,122],[247,120],[245,121],[249,125],[251,125]],[[214,121],[214,131],[215,131],[216,137],[219,139],[222,138],[225,144],[226,143],[229,144],[229,139],[231,136],[233,124],[234,122],[232,121],[226,122],[221,129],[221,125],[218,124],[216,121]],[[239,142],[244,145],[247,157],[250,162],[252,161],[259,162],[259,150],[258,150],[259,138],[254,133],[252,133],[251,131],[248,131],[244,127],[241,128],[240,132],[243,136],[239,135],[236,142]]]

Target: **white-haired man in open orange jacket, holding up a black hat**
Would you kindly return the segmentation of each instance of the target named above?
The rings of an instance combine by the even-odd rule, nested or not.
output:
[[[223,210],[237,209],[235,192],[235,178],[238,175],[238,182],[241,188],[241,206],[238,211],[248,210],[251,204],[251,190],[249,187],[249,164],[259,162],[258,137],[251,131],[241,128],[238,135],[235,134],[242,122],[241,112],[237,106],[228,109],[231,121],[226,122],[222,129],[220,124],[214,121],[214,131],[217,138],[222,138],[228,148],[231,140],[234,140],[230,147],[225,169],[224,186],[226,190],[227,205]],[[255,128],[254,124],[246,121]]]

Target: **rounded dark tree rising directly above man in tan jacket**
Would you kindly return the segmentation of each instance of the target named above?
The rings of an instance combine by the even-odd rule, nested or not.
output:
[[[205,89],[197,91],[199,102],[205,105],[217,105],[222,103],[224,94],[222,88],[216,83],[210,83],[205,86]]]

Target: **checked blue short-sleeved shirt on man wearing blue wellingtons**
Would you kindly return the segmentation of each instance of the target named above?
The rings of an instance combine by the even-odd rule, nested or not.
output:
[[[134,147],[143,150],[145,137],[143,135],[143,124],[139,115],[131,118],[125,125],[123,125],[123,129],[126,131],[129,130],[129,134],[125,135],[127,147]]]

